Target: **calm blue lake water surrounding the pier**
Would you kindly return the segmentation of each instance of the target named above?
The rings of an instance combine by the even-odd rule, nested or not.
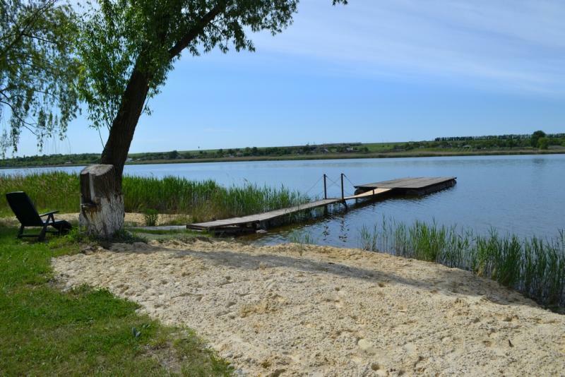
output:
[[[60,168],[78,172],[80,167]],[[37,169],[25,169],[30,172]],[[4,173],[22,172],[10,169]],[[457,176],[458,184],[422,198],[388,198],[334,211],[299,227],[271,229],[261,242],[279,242],[301,229],[319,244],[359,246],[359,229],[383,217],[411,223],[435,220],[444,225],[470,227],[477,232],[495,228],[521,236],[556,237],[565,229],[565,155],[429,157],[365,160],[277,162],[212,162],[198,164],[129,165],[126,174],[188,179],[215,179],[224,185],[246,181],[284,185],[310,196],[322,196],[319,179],[326,173],[328,194],[339,196],[340,173],[347,175],[345,193],[355,184],[403,176]],[[1,172],[0,172],[1,174]]]

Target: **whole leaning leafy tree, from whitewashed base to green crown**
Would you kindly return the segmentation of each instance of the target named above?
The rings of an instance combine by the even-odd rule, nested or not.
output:
[[[333,4],[346,0],[333,0]],[[217,48],[254,50],[252,32],[273,35],[292,23],[298,0],[99,0],[84,13],[78,49],[83,71],[81,95],[94,127],[109,136],[102,164],[82,179],[85,203],[82,224],[108,236],[124,221],[121,176],[133,133],[148,100],[157,95],[174,62]],[[97,184],[93,176],[101,174]],[[88,174],[85,174],[87,176]],[[88,187],[90,185],[90,188]],[[93,187],[98,193],[93,193]]]

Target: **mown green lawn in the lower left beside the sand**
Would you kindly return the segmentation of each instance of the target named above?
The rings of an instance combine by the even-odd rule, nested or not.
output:
[[[61,292],[49,261],[76,252],[68,237],[20,241],[0,227],[1,375],[230,375],[189,329],[161,325],[104,289]]]

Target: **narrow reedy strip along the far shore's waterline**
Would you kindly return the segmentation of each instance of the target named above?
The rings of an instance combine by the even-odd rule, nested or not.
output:
[[[196,164],[199,162],[250,162],[250,161],[308,161],[308,160],[359,160],[364,158],[410,158],[410,157],[458,157],[458,156],[498,156],[498,155],[564,155],[564,149],[556,150],[488,150],[488,151],[415,151],[415,152],[377,152],[377,153],[326,153],[316,155],[246,156],[191,158],[177,160],[144,160],[126,162],[126,165],[147,164]],[[0,167],[1,169],[33,169],[44,167],[77,167],[85,164],[52,164]]]

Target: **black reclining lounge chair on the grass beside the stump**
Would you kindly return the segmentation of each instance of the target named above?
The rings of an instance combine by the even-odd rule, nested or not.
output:
[[[59,211],[51,211],[43,213],[42,215],[37,213],[35,205],[33,205],[30,197],[23,191],[6,193],[6,200],[21,224],[20,231],[18,232],[18,238],[37,237],[39,241],[43,241],[46,233],[64,234],[72,229],[72,225],[69,224],[68,221],[55,221],[54,214]],[[47,220],[43,221],[42,217],[45,216],[47,216]],[[54,227],[57,230],[47,229],[49,226]],[[40,227],[42,229],[39,234],[23,234],[23,228],[25,227]]]

